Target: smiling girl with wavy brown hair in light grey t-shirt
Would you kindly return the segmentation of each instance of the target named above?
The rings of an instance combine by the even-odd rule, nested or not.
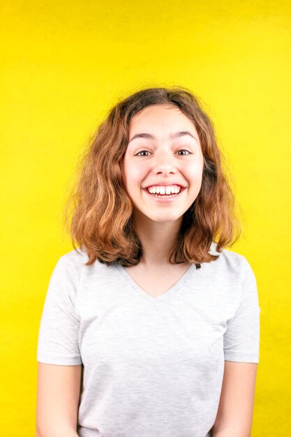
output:
[[[209,117],[187,89],[142,89],[81,164],[40,321],[38,436],[250,436],[260,306],[224,249],[239,225]]]

